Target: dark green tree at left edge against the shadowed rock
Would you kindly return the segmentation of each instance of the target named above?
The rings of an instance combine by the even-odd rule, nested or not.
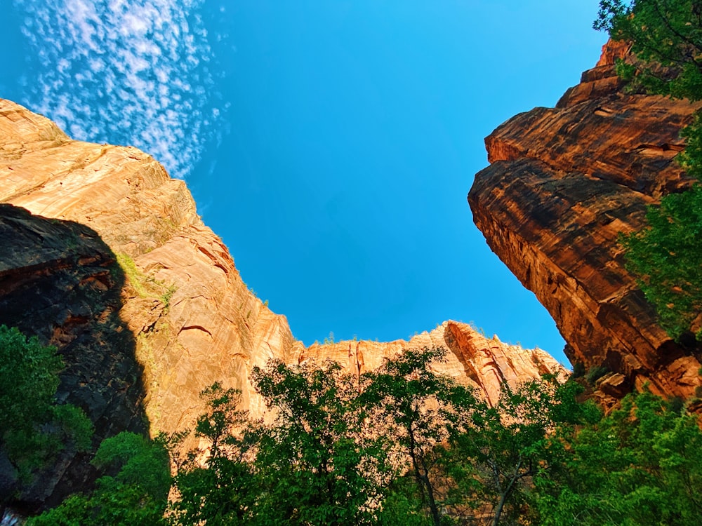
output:
[[[55,403],[62,368],[54,347],[0,326],[0,448],[27,482],[65,447],[90,445],[93,428],[84,412]]]

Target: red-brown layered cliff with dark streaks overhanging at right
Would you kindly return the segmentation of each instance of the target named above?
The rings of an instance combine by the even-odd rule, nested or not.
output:
[[[695,107],[624,93],[614,60],[626,53],[609,43],[555,108],[491,133],[491,166],[475,176],[468,202],[491,249],[555,319],[571,362],[622,375],[622,392],[649,382],[687,397],[700,384],[696,350],[656,324],[617,236],[640,229],[661,194],[689,187],[673,158]]]

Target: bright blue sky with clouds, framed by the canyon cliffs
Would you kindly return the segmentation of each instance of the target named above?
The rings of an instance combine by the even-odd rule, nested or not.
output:
[[[187,181],[305,344],[472,321],[560,360],[466,194],[595,65],[597,0],[3,0],[0,96]]]

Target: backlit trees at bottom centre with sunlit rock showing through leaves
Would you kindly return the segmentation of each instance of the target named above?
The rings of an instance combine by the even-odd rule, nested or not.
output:
[[[444,349],[404,351],[349,375],[337,363],[279,360],[252,380],[273,422],[237,411],[240,394],[203,391],[205,447],[178,465],[174,525],[449,525],[520,515],[563,451],[554,422],[585,422],[576,384],[543,379],[492,407],[437,375]],[[595,411],[595,415],[599,413]],[[596,419],[596,417],[595,417]]]

